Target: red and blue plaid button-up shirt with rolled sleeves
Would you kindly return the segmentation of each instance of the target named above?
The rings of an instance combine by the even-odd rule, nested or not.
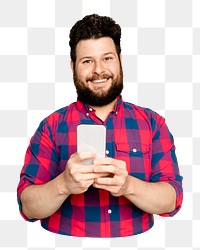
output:
[[[95,110],[77,101],[44,119],[31,139],[18,185],[20,194],[29,185],[47,183],[62,173],[71,154],[77,151],[78,124],[104,124],[109,157],[126,162],[131,176],[147,182],[168,182],[176,190],[176,208],[182,204],[182,177],[175,146],[164,118],[157,113],[118,98],[115,110],[102,122]],[[53,202],[53,201],[52,201]],[[34,220],[30,220],[34,221]],[[45,229],[83,237],[119,237],[143,233],[153,226],[153,215],[125,197],[90,187],[83,194],[70,195],[62,206],[41,220]]]

